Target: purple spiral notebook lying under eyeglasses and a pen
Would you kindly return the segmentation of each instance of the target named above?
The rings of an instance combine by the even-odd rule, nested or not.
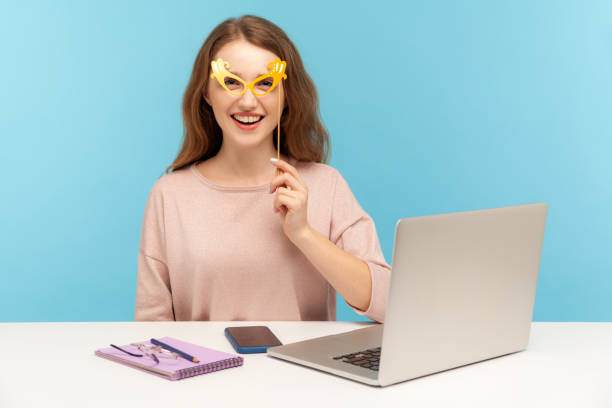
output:
[[[177,359],[160,357],[158,358],[159,362],[156,362],[146,355],[143,357],[133,357],[112,347],[96,350],[96,355],[130,367],[145,370],[168,380],[180,380],[182,378],[193,377],[194,375],[241,366],[243,362],[242,357],[235,354],[196,346],[195,344],[180,341],[172,337],[162,337],[158,340],[187,354],[191,354],[200,361],[193,363],[181,357]],[[141,341],[139,343],[151,345],[149,341]],[[120,347],[130,353],[142,354],[137,347],[129,344]]]

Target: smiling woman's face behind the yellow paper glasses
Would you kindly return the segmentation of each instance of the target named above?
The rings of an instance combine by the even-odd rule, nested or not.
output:
[[[237,40],[223,46],[214,60],[221,58],[229,62],[227,70],[250,83],[268,73],[268,64],[277,57],[271,51]],[[223,131],[224,143],[253,146],[271,141],[278,121],[279,92],[280,106],[285,103],[282,82],[262,96],[255,96],[251,89],[237,96],[227,92],[215,79],[209,78],[205,99]]]

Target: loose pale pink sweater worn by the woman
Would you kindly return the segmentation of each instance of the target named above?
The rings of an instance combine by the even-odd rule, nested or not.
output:
[[[290,160],[308,186],[308,223],[365,261],[368,310],[382,322],[391,268],[372,218],[333,167]],[[226,187],[195,164],[166,174],[147,200],[135,320],[336,320],[336,291],[285,236],[268,184]]]

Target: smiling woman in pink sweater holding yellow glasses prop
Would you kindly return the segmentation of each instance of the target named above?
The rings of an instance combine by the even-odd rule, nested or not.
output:
[[[135,319],[335,320],[337,290],[382,322],[390,267],[372,219],[324,164],[316,90],[287,35],[255,16],[217,26],[183,119],[145,209]]]

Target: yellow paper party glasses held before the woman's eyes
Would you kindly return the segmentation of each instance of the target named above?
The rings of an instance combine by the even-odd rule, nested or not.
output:
[[[227,71],[226,68],[229,68],[229,62],[223,61],[221,58],[212,61],[210,65],[212,67],[210,77],[217,79],[217,82],[219,82],[223,89],[236,96],[244,94],[248,89],[257,96],[263,96],[276,88],[281,79],[287,79],[285,74],[287,63],[279,58],[268,64],[270,72],[255,78],[249,84],[238,75]]]

